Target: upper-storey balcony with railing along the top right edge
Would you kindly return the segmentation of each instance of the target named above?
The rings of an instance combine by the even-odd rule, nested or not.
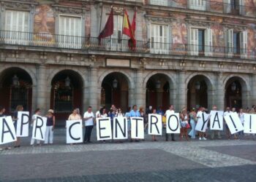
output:
[[[149,5],[162,6],[162,7],[174,7],[179,9],[195,9],[198,11],[206,12],[219,12],[230,15],[246,15],[246,11],[255,12],[254,7],[246,7],[238,4],[227,4],[223,1],[213,0],[148,0]],[[254,17],[254,15],[246,15]]]

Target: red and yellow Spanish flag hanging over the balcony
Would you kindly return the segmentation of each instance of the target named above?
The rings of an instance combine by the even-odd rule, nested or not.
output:
[[[135,49],[136,40],[135,40],[135,30],[133,30],[131,24],[129,23],[129,17],[127,15],[127,10],[124,9],[124,25],[123,25],[123,34],[129,36],[129,47]],[[135,26],[134,26],[135,27]]]

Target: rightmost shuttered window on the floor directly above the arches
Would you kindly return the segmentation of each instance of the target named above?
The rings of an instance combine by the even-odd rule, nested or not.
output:
[[[229,58],[240,57],[247,58],[247,32],[233,31],[228,29],[226,32],[227,56]]]

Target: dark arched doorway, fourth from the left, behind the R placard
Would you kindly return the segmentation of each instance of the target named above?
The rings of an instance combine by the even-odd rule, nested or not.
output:
[[[146,106],[166,110],[170,105],[170,79],[165,74],[154,74],[146,83]]]

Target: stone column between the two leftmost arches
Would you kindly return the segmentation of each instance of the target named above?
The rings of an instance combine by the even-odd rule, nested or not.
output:
[[[46,84],[46,66],[41,64],[37,67],[37,108],[40,108],[42,114],[46,114],[47,102],[50,100],[47,99],[47,84]]]

